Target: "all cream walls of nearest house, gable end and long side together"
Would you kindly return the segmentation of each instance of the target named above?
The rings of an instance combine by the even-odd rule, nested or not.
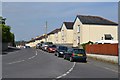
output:
[[[80,33],[77,32],[77,27],[80,26]],[[79,18],[73,25],[73,47],[77,47],[77,37],[80,36],[80,44],[88,41],[96,42],[104,37],[104,34],[111,34],[113,40],[118,40],[118,26],[113,25],[87,25],[82,24]]]

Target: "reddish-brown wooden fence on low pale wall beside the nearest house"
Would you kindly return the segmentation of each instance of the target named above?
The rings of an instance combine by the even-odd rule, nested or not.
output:
[[[86,45],[85,50],[88,54],[102,54],[102,55],[118,56],[118,44]]]

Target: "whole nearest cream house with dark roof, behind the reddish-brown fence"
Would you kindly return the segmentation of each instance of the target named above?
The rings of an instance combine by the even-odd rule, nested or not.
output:
[[[88,41],[118,40],[118,24],[99,16],[77,15],[73,25],[73,47]]]

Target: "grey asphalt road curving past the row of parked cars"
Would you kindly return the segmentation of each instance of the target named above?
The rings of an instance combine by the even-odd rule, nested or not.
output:
[[[2,57],[3,78],[118,78],[118,66],[91,58],[69,62],[39,49],[21,49]]]

